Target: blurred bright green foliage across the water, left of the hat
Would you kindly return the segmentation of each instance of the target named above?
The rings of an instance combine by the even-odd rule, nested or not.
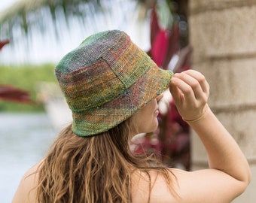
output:
[[[34,105],[29,105],[0,100],[0,112],[44,111],[44,106],[38,101],[37,85],[41,81],[56,82],[54,65],[0,66],[0,83],[29,91],[32,101],[35,102]]]

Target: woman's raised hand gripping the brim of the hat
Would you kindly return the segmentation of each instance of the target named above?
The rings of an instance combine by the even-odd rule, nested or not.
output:
[[[187,70],[174,74],[169,89],[184,120],[197,120],[206,111],[209,83],[200,72]]]

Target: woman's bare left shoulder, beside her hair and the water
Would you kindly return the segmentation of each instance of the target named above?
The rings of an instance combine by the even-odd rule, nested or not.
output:
[[[42,162],[42,161],[41,161]],[[20,184],[17,188],[17,191],[14,195],[12,203],[20,202],[36,202],[35,201],[35,186],[38,183],[38,168],[41,165],[41,162],[38,162],[36,165],[29,168],[26,171],[26,174],[23,175],[20,180]]]

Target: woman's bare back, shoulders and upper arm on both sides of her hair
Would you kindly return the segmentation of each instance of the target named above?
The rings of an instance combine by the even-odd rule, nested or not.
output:
[[[39,165],[40,162],[24,174],[12,203],[37,202],[35,186],[37,186],[38,181],[36,171]],[[172,168],[169,171],[174,177],[171,183],[175,193],[169,189],[165,177],[156,171],[149,173],[151,181],[145,173],[134,173],[131,191],[133,203],[228,203],[239,195],[243,188],[242,182],[215,169],[189,172]],[[230,186],[232,186],[232,189],[230,189]]]

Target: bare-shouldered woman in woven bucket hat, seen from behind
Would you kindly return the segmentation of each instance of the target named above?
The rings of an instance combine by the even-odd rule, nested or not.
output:
[[[56,66],[73,113],[47,156],[29,169],[13,202],[230,202],[251,180],[248,162],[207,105],[197,71],[172,75],[126,33],[87,38]],[[130,140],[157,129],[157,102],[169,87],[179,114],[197,132],[209,169],[165,168],[130,153]]]

